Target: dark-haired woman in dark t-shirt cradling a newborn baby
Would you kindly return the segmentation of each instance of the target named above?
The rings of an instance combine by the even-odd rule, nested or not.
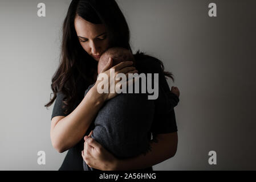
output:
[[[52,77],[51,89],[54,97],[45,105],[48,107],[56,100],[51,119],[52,146],[59,152],[68,150],[60,170],[83,170],[84,135],[91,132],[91,123],[104,102],[116,96],[116,93],[99,94],[96,90],[97,61],[110,47],[131,50],[129,28],[115,0],[73,0],[63,23],[60,65]],[[173,77],[171,73],[164,72],[161,61],[139,52],[135,59],[136,67],[141,72],[150,72],[156,68],[155,71],[160,74],[159,85],[168,95],[170,90],[164,76]],[[146,59],[147,64],[143,61]],[[112,60],[109,60],[103,70],[108,76],[110,68],[115,68],[115,73],[137,72],[130,62],[123,62],[115,67],[111,64]],[[88,85],[94,82],[94,87],[83,97]],[[116,159],[99,143],[89,138],[86,142],[88,146],[85,147],[93,147],[94,152],[84,151],[87,164],[100,170],[152,170],[153,165],[176,153],[177,127],[174,111],[161,114],[154,126],[158,130],[152,132],[152,150],[131,159]]]

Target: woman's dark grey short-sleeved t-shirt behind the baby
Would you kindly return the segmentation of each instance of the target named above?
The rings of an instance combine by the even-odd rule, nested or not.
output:
[[[143,73],[159,73],[159,97],[156,100],[152,100],[155,104],[155,112],[153,117],[153,123],[151,126],[151,133],[153,136],[157,134],[173,133],[177,131],[176,117],[173,106],[176,106],[179,99],[173,93],[170,92],[168,83],[165,76],[161,71],[160,64],[151,57],[145,59],[139,58],[140,62],[136,65],[136,68]],[[79,86],[79,85],[78,85]],[[74,108],[83,100],[84,92],[86,89],[81,90],[79,100]],[[62,92],[57,93],[54,108],[52,110],[51,119],[55,116],[67,116],[70,113],[64,113],[62,108],[64,94]],[[91,123],[90,128],[87,130],[88,135],[95,127],[94,122]],[[137,127],[137,123],[134,127]],[[150,136],[149,136],[150,138]],[[81,151],[83,150],[84,139],[82,138],[74,147],[71,147],[62,163],[59,170],[83,170],[83,158]],[[148,168],[149,171],[152,167]]]

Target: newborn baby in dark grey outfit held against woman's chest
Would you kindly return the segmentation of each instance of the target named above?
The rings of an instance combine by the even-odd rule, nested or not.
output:
[[[98,73],[101,73],[109,57],[113,59],[112,66],[121,61],[135,61],[129,50],[111,48],[101,55]],[[92,86],[94,84],[89,86],[85,95]],[[159,94],[161,96],[162,93]],[[91,137],[119,159],[143,154],[150,150],[155,105],[155,100],[148,100],[148,93],[120,93],[105,102],[99,110]],[[174,103],[173,107],[176,105]],[[84,160],[83,167],[85,171],[97,170],[88,167]]]

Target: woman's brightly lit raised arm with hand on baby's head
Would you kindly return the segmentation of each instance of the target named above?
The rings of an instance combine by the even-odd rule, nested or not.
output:
[[[113,60],[109,59],[108,64],[105,65],[102,71],[108,77],[110,77],[109,68],[111,68],[112,63]],[[132,61],[125,61],[115,65],[112,69],[115,69],[115,74],[124,73],[128,75],[128,73],[135,72],[135,67],[131,67],[132,63]],[[107,81],[107,83],[104,82],[104,85],[109,85],[108,80],[103,81]],[[97,85],[99,82],[102,81],[96,81],[95,85],[88,91],[82,102],[80,102],[72,113],[64,118],[52,118],[50,131],[51,142],[57,151],[64,152],[75,146],[84,137],[84,134],[91,125],[92,119],[95,118],[104,102],[117,95],[117,93],[98,93]],[[118,81],[115,80],[114,84],[116,82]]]

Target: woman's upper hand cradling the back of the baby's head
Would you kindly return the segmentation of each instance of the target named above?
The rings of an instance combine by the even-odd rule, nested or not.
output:
[[[114,80],[113,82],[110,81],[111,79],[111,69],[115,69],[115,73],[113,74],[116,78],[118,73],[124,73],[126,75],[126,77],[128,78],[128,74],[129,73],[137,73],[138,71],[136,70],[135,67],[132,67],[133,61],[123,61],[115,66],[112,67],[113,64],[113,59],[111,57],[109,57],[108,63],[105,65],[103,71],[101,71],[101,73],[105,73],[108,77],[107,79],[103,79],[101,80],[99,78],[99,80],[97,79],[95,85],[93,86],[93,89],[95,90],[95,92],[97,92],[97,86],[102,86],[102,85],[108,85],[108,93],[102,93],[100,94],[99,92],[97,92],[98,94],[101,95],[101,97],[103,98],[103,101],[107,101],[113,97],[115,97],[117,95],[115,88],[120,88],[121,84],[119,84],[118,82],[120,80]],[[135,82],[135,80],[127,80],[126,84],[133,84]],[[111,93],[111,88],[114,88],[115,93]]]

